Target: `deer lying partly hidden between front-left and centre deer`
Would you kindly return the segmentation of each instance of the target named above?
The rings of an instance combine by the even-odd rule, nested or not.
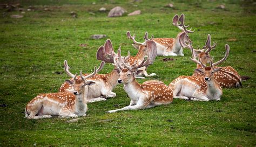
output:
[[[98,52],[103,50],[105,52],[106,50],[106,52],[109,53],[110,46],[112,46],[111,41],[106,40],[106,43],[104,44],[104,46],[99,47]],[[98,52],[97,52],[97,57],[98,57]],[[107,59],[106,57],[102,60],[105,62],[113,63],[111,59]],[[83,75],[86,76],[87,74],[83,74]],[[116,97],[116,93],[113,93],[112,90],[114,87],[116,87],[118,78],[119,78],[119,70],[117,68],[114,68],[112,72],[110,72],[109,74],[95,74],[94,76],[89,78],[90,81],[95,82],[95,85],[89,87],[88,94],[87,94],[87,101],[91,103],[91,102],[97,102],[97,101],[105,101],[106,100],[105,98],[108,98],[108,97]],[[71,78],[70,81],[73,81],[73,79]],[[63,83],[62,86],[59,88],[59,92],[72,93],[72,91],[73,91],[72,85],[70,85],[70,83],[68,82]]]

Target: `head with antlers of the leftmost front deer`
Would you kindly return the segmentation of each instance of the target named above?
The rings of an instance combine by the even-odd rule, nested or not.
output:
[[[82,94],[85,90],[85,86],[90,86],[95,84],[95,82],[93,81],[87,81],[86,79],[91,78],[93,75],[95,75],[96,73],[98,73],[100,70],[102,70],[102,68],[104,67],[105,62],[102,61],[100,63],[100,66],[98,69],[96,69],[97,67],[95,66],[93,73],[83,76],[82,74],[82,70],[80,71],[80,76],[77,76],[77,73],[74,75],[72,74],[69,69],[70,67],[68,66],[68,61],[64,61],[64,70],[66,72],[66,74],[68,74],[71,78],[73,78],[72,80],[66,80],[66,82],[68,82],[70,85],[73,85],[73,94],[78,95],[78,94]]]

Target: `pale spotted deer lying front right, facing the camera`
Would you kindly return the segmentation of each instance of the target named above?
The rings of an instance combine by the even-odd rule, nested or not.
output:
[[[201,60],[198,61],[193,46],[189,45],[189,47],[192,53],[192,58],[190,59],[203,67],[201,71],[204,73],[204,76],[179,76],[173,80],[169,87],[173,90],[174,98],[193,101],[220,100],[223,91],[218,81],[214,78],[214,73],[219,71],[219,68],[214,66],[227,59],[230,46],[226,44],[225,57],[213,64],[211,61],[211,66],[206,66]]]

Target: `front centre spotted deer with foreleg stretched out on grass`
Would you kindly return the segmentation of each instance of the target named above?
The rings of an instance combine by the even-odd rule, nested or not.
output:
[[[139,64],[127,64],[121,57],[120,50],[118,50],[118,57],[114,58],[114,64],[121,69],[119,83],[124,83],[124,90],[129,95],[131,102],[130,105],[122,109],[110,110],[107,113],[115,113],[122,110],[137,110],[151,108],[160,104],[169,104],[173,100],[173,94],[170,87],[167,87],[161,81],[146,81],[142,85],[139,84],[134,78],[136,69],[149,66],[153,64],[157,55],[156,43],[149,40],[146,41],[149,48],[149,56]]]

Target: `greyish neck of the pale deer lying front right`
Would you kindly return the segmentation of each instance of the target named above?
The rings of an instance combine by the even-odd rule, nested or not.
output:
[[[207,90],[206,94],[208,97],[211,97],[212,99],[219,99],[222,95],[222,89],[219,85],[219,83],[215,80],[213,77],[211,81],[206,81],[207,84]]]

